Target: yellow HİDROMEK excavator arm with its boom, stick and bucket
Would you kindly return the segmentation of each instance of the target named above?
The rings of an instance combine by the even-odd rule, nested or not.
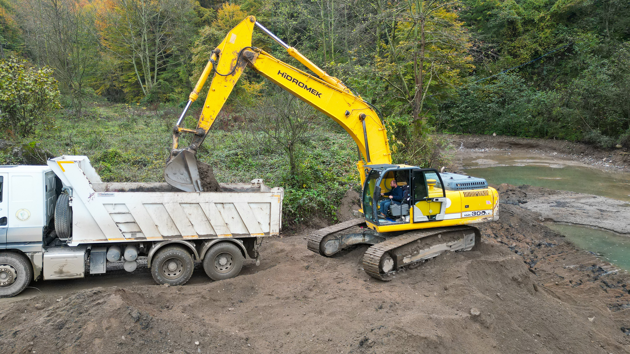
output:
[[[289,55],[304,64],[314,75],[290,66],[264,50],[252,47],[251,36],[254,26],[258,26],[282,45]],[[372,106],[357,94],[353,94],[339,79],[329,76],[296,49],[282,42],[256,22],[254,16],[248,16],[232,28],[223,42],[213,50],[195,89],[190,93],[185,110],[173,128],[173,148],[164,169],[164,178],[170,185],[185,191],[202,191],[195,153],[245,67],[250,67],[339,123],[357,143],[368,164],[391,164],[387,132]],[[212,72],[215,75],[212,77],[197,128],[195,130],[182,128],[181,122],[186,110],[197,100],[200,90]],[[192,142],[184,148],[178,147],[181,133],[193,134]],[[357,162],[357,168],[363,183],[365,171],[362,160]]]

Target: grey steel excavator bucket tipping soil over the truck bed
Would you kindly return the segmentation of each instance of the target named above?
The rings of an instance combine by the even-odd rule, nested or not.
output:
[[[164,168],[164,180],[183,191],[203,191],[195,153],[189,149],[183,149],[172,157]]]

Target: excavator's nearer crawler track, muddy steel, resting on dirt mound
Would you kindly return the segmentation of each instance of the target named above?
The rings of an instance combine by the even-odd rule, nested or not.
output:
[[[474,232],[474,236],[471,236],[471,231]],[[425,248],[412,245],[418,240],[427,240],[429,237],[433,237],[431,240],[433,244],[430,246],[428,246],[429,243]],[[363,267],[370,277],[389,281],[394,278],[397,271],[404,267],[413,267],[444,251],[471,249],[476,242],[479,242],[480,237],[479,230],[471,226],[436,227],[407,232],[368,248],[363,256]]]

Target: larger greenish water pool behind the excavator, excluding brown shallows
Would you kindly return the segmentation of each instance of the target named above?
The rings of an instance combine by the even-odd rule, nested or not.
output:
[[[466,173],[485,178],[488,183],[495,185],[532,185],[630,201],[630,176],[627,173],[610,173],[581,166],[559,166],[562,167],[554,168],[542,164],[496,166],[470,168]]]

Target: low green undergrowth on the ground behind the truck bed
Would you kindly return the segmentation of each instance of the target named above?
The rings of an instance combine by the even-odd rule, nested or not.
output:
[[[93,104],[82,118],[60,110],[54,128],[38,130],[37,141],[55,156],[86,155],[103,181],[163,182],[164,161],[171,147],[171,128],[180,108],[151,110],[141,106]],[[198,112],[195,112],[198,113]],[[197,115],[186,118],[193,127]],[[282,149],[260,144],[261,132],[238,115],[222,115],[197,153],[213,166],[219,182],[262,178],[271,187],[285,188],[285,226],[309,223],[314,217],[336,220],[341,197],[358,189],[357,147],[335,123],[314,128],[312,142],[299,152],[300,176],[289,176]],[[180,146],[186,144],[183,139]]]

